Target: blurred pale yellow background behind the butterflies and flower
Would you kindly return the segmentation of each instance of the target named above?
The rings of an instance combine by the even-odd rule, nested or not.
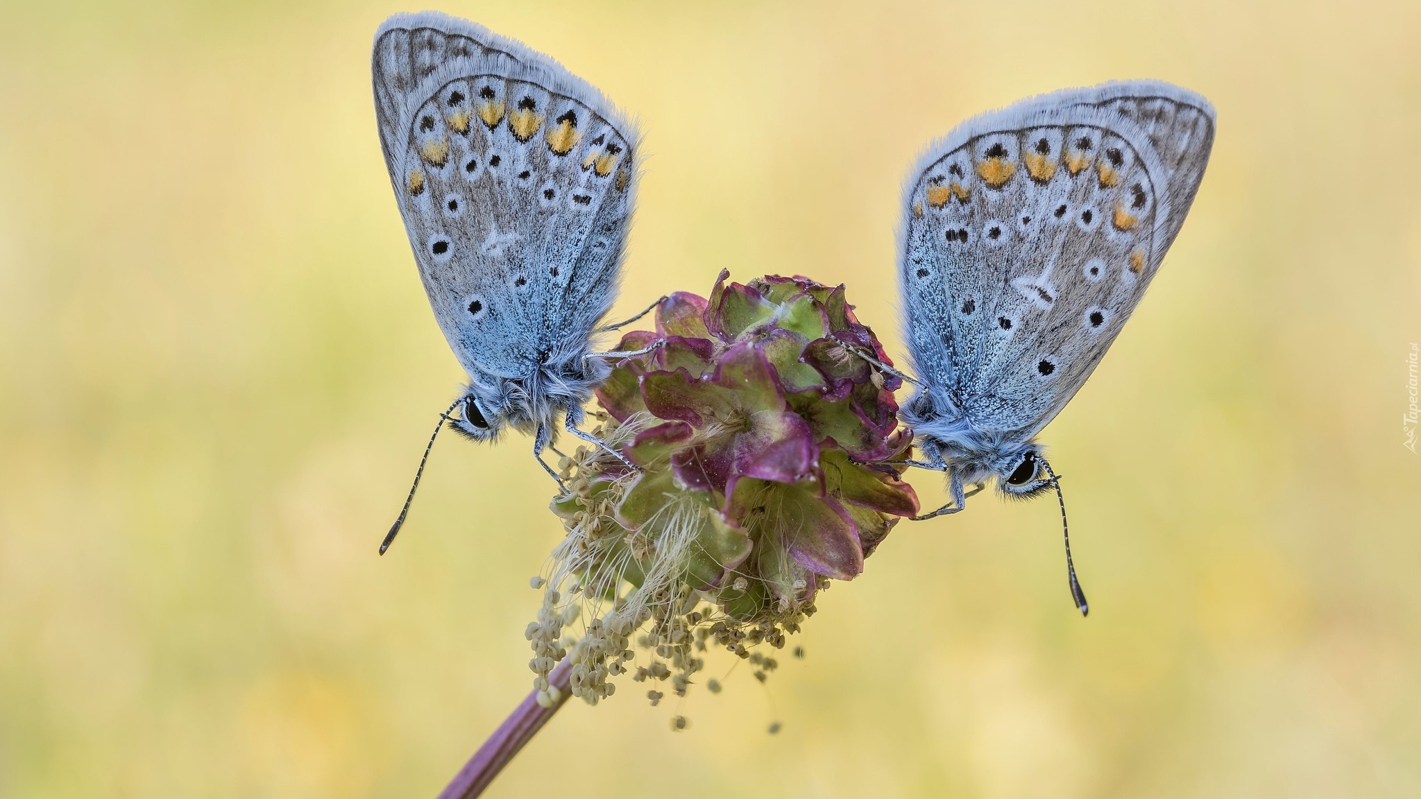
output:
[[[442,9],[641,117],[618,314],[803,273],[895,354],[926,141],[1110,78],[1219,115],[1044,435],[1088,620],[1054,502],[982,496],[899,526],[767,687],[679,735],[634,682],[574,702],[490,796],[1421,795],[1418,4]],[[529,690],[527,439],[442,441],[375,556],[460,380],[375,134],[398,10],[0,7],[0,796],[433,795]]]

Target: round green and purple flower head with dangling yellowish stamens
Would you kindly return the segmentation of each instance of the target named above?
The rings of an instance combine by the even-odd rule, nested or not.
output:
[[[816,593],[861,573],[917,513],[899,481],[911,435],[897,429],[898,378],[864,360],[890,363],[844,287],[728,277],[709,299],[672,294],[655,331],[618,345],[652,351],[620,361],[597,391],[594,432],[635,468],[594,448],[561,463],[553,510],[567,537],[529,626],[540,691],[573,657],[571,691],[590,702],[632,670],[684,695],[712,640],[763,680],[774,660],[750,648],[783,647]],[[581,607],[585,634],[561,638]],[[642,628],[651,654],[638,665]]]

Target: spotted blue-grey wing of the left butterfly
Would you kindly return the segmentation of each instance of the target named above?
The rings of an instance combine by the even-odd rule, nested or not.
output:
[[[389,181],[465,370],[522,378],[585,353],[617,289],[635,128],[551,58],[425,11],[371,58]]]

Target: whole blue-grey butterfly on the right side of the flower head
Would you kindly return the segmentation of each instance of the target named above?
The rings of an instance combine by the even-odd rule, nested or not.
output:
[[[1036,435],[1140,304],[1204,178],[1215,114],[1160,81],[1108,82],[968,119],[909,172],[899,227],[902,418],[962,510],[1060,485]],[[975,486],[971,492],[965,486]],[[1061,523],[1066,503],[1061,499]],[[1070,562],[1071,597],[1088,613]]]

